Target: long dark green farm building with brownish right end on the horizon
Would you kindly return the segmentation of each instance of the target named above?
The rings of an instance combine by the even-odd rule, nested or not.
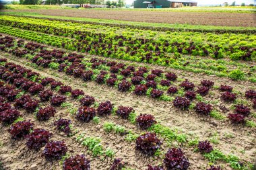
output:
[[[162,8],[197,6],[197,2],[191,0],[135,0],[134,8]]]

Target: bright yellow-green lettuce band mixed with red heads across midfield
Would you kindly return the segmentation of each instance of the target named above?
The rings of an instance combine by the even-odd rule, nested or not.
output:
[[[121,34],[115,34],[113,32],[114,28],[105,28],[106,33],[102,33],[102,31],[97,32],[97,26],[47,19],[3,16],[0,21],[0,24],[5,26],[76,38],[79,41],[79,47],[73,46],[73,48],[77,48],[77,50],[100,51],[101,55],[112,57],[120,57],[125,52],[124,58],[136,57],[136,60],[141,62],[160,65],[169,64],[171,61],[170,53],[176,56],[189,54],[193,56],[211,56],[212,58],[230,56],[232,60],[251,60],[255,58],[256,54],[255,37],[245,34],[223,34],[220,36],[211,33],[204,35],[195,32],[170,32],[170,35],[163,34],[154,39],[143,37],[146,35],[145,32],[139,34],[140,37],[134,32],[129,32],[129,30]],[[90,30],[88,27],[95,30]],[[110,31],[108,32],[108,30]],[[151,34],[154,36],[159,33],[152,32]],[[65,42],[62,45],[65,46]],[[111,54],[109,54],[109,51],[111,51]]]

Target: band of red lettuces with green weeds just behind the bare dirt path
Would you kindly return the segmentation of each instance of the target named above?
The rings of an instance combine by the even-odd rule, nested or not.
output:
[[[9,42],[9,44],[14,41],[12,38],[9,37],[2,38],[1,40],[3,40],[3,42]],[[91,79],[93,79],[99,84],[106,83],[110,87],[117,87],[119,91],[133,91],[135,95],[147,94],[150,97],[159,98],[165,101],[172,100],[175,107],[181,108],[183,110],[190,107],[191,101],[193,99],[199,99],[198,97],[201,97],[201,95],[207,95],[207,93],[209,93],[210,91],[210,88],[214,85],[213,81],[203,80],[201,81],[201,87],[199,87],[197,91],[193,91],[195,87],[194,83],[186,80],[179,84],[182,89],[177,89],[177,87],[175,86],[170,87],[171,81],[173,82],[177,79],[177,75],[175,75],[174,73],[166,73],[163,76],[164,71],[158,69],[152,70],[150,74],[148,73],[149,70],[145,67],[139,67],[135,69],[135,67],[126,66],[121,62],[107,62],[106,60],[98,60],[96,58],[92,58],[90,61],[88,61],[84,60],[85,58],[82,55],[78,55],[75,53],[65,54],[65,52],[60,50],[42,49],[40,50],[40,52],[36,53],[36,51],[32,49],[41,48],[39,44],[24,44],[24,41],[22,40],[18,41],[18,46],[20,46],[20,48],[14,47],[9,50],[9,52],[15,54],[16,56],[24,56],[28,53],[33,54],[32,56],[29,56],[30,60],[32,60],[32,62],[36,63],[36,65],[38,66],[42,66],[44,68],[50,67],[52,69],[58,69],[61,72],[65,72],[67,75],[81,77],[84,81],[90,81]],[[25,48],[21,48],[21,46],[25,46]],[[121,73],[121,75],[119,73]],[[160,85],[158,85],[157,82],[160,83]],[[167,95],[164,94],[164,89],[167,90]],[[232,87],[228,85],[221,85],[219,89],[220,91],[226,91],[221,95],[222,100],[234,101],[236,99],[236,94],[231,92]],[[184,90],[187,92],[185,92]],[[255,98],[253,97],[255,91],[247,91],[247,93],[252,93],[251,98]],[[176,95],[178,97],[174,98],[170,97],[170,95]],[[185,98],[182,97],[183,95],[185,95]],[[249,96],[247,95],[247,97]],[[201,101],[202,100],[203,99],[201,99]],[[253,99],[253,102],[255,102],[255,99]],[[199,114],[210,114],[211,116],[213,116],[213,107],[210,104],[201,102],[197,103],[193,107],[195,108],[195,111]],[[199,107],[205,108],[207,110],[200,110]],[[245,117],[249,116],[250,109],[245,105],[236,105],[235,107],[242,107],[248,110],[247,114],[237,112],[238,116],[242,117],[241,121],[238,122],[245,122]],[[244,116],[241,116],[241,114]],[[236,122],[232,117],[234,115],[236,114],[230,114],[228,116],[228,118],[230,118],[232,122]]]

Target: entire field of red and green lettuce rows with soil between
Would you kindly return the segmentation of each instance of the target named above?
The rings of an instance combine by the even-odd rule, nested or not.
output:
[[[0,16],[0,169],[256,168],[255,22],[58,10]]]

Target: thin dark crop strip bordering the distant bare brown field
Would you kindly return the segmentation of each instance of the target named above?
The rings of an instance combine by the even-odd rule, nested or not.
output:
[[[4,13],[3,15],[8,16],[14,16],[17,17],[19,15],[11,15]],[[202,33],[216,33],[216,34],[225,34],[225,33],[234,33],[234,34],[255,34],[256,31],[252,29],[234,29],[232,27],[230,28],[212,28],[212,29],[206,29],[206,28],[184,28],[184,27],[156,27],[156,26],[137,26],[137,25],[131,25],[131,24],[110,24],[110,23],[104,23],[104,22],[89,22],[89,21],[78,21],[78,20],[70,20],[70,19],[59,19],[59,18],[50,18],[50,17],[34,17],[34,16],[25,16],[22,15],[22,17],[27,18],[34,18],[34,19],[48,19],[50,21],[59,21],[59,22],[69,22],[69,23],[75,23],[75,24],[90,24],[90,25],[96,25],[96,26],[106,26],[110,28],[123,28],[123,29],[132,29],[132,30],[151,30],[151,31],[157,31],[157,32],[202,32]]]

